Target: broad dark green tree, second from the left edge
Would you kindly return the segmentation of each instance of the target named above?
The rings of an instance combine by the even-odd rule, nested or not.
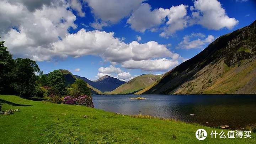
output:
[[[30,59],[18,58],[15,60],[14,68],[12,69],[11,86],[20,94],[21,97],[33,96],[36,85],[36,73],[40,69],[37,63]]]

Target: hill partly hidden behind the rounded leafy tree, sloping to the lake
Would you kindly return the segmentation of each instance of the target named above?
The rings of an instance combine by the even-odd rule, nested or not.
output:
[[[60,70],[63,73],[63,76],[65,78],[65,85],[70,85],[73,84],[75,82],[75,80],[77,79],[76,76],[74,76],[71,72],[69,72],[68,70]],[[89,80],[90,81],[90,80]],[[86,81],[85,81],[86,82]],[[87,83],[87,82],[86,82]],[[92,87],[89,83],[87,83],[87,87],[91,89],[91,93],[92,94],[104,94],[102,93],[100,90],[98,90],[97,88]]]

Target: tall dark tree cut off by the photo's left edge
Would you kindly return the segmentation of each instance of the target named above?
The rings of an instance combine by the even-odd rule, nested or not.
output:
[[[4,46],[5,41],[0,41],[0,92],[10,87],[10,72],[14,66],[14,60],[7,47]]]

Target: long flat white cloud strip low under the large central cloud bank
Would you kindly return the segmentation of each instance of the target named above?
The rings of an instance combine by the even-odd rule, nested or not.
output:
[[[168,60],[165,58],[155,60],[129,60],[122,63],[127,69],[140,69],[143,71],[166,71],[178,65],[177,60]]]

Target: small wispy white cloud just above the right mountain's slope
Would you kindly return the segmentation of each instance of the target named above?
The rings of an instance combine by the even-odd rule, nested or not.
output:
[[[191,38],[199,37],[196,40],[190,40]],[[208,35],[207,38],[202,33],[192,33],[191,35],[185,35],[183,41],[181,41],[177,49],[194,49],[194,48],[203,48],[204,45],[211,43],[215,38],[213,35]]]

